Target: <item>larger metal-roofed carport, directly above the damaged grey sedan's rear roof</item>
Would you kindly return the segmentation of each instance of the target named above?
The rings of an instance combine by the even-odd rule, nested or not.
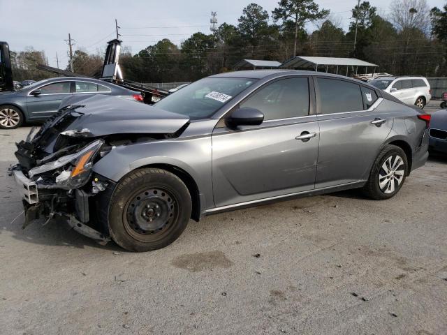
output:
[[[281,64],[281,66],[279,66],[279,68],[313,68],[314,70],[318,71],[318,66],[320,66],[320,68],[325,68],[326,72],[328,72],[329,66],[335,66],[337,68],[337,74],[339,67],[346,66],[346,75],[348,75],[349,66],[356,68],[356,74],[359,66],[365,66],[365,73],[368,72],[369,67],[372,67],[374,69],[374,73],[376,73],[376,68],[379,67],[376,64],[356,58],[295,56],[285,61]]]

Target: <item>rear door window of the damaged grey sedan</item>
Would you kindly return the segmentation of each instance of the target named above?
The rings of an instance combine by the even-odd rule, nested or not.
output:
[[[317,78],[321,114],[363,110],[360,85],[345,80]]]

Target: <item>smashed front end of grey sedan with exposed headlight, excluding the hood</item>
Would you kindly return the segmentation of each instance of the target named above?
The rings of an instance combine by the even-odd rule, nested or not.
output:
[[[101,228],[94,227],[89,200],[112,183],[101,176],[92,176],[91,171],[98,158],[110,151],[110,146],[101,138],[92,140],[78,133],[57,132],[80,107],[59,111],[57,117],[61,118],[56,122],[57,117],[52,118],[36,134],[33,128],[26,141],[17,143],[15,156],[19,163],[9,173],[23,198],[23,228],[38,218],[45,218],[47,223],[59,216],[66,218],[74,230],[105,244],[110,238]],[[45,147],[50,142],[54,142],[55,151],[47,154]]]

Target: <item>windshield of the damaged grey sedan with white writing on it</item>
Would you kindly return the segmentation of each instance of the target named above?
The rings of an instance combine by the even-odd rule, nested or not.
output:
[[[179,89],[155,105],[191,119],[205,119],[255,81],[234,77],[204,78]]]

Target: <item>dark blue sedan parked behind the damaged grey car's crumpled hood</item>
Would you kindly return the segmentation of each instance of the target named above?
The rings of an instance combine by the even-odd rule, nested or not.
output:
[[[142,101],[140,92],[85,77],[58,77],[35,82],[14,92],[0,93],[0,128],[13,129],[25,121],[43,121],[57,112],[62,99],[75,94],[106,94]]]

